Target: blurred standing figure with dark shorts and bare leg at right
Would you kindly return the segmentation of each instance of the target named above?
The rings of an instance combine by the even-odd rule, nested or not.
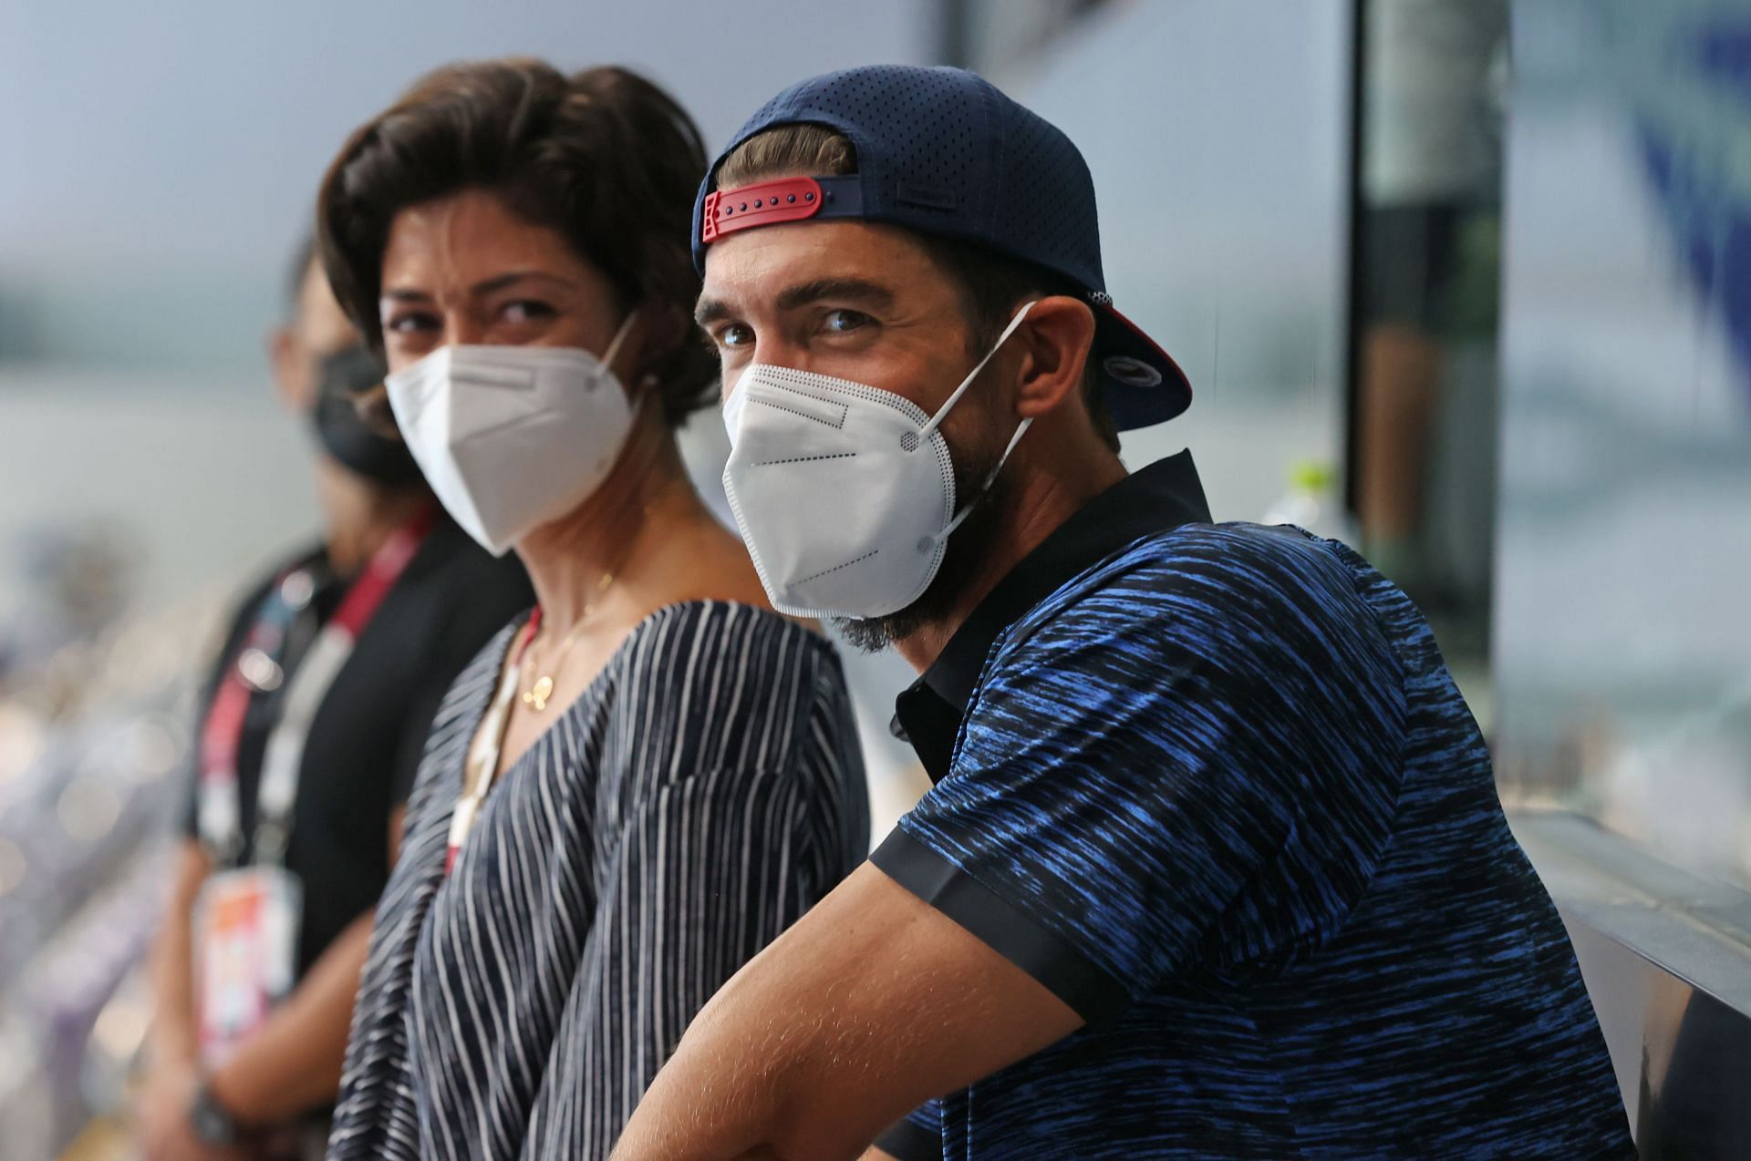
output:
[[[1357,514],[1427,607],[1452,596],[1420,546],[1445,360],[1495,325],[1508,0],[1369,0],[1366,28]]]

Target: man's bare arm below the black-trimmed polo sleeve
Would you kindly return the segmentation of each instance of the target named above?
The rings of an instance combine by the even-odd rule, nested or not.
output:
[[[1080,1025],[1044,984],[863,864],[706,1005],[613,1156],[858,1158],[921,1102]]]

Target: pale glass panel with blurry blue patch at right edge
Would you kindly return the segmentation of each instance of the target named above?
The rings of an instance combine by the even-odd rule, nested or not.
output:
[[[1751,5],[1513,35],[1501,776],[1751,881]]]

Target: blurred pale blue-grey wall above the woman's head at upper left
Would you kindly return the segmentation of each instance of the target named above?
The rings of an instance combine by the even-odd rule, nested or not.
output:
[[[721,143],[784,84],[930,52],[928,0],[0,0],[0,295],[89,362],[233,372],[343,136],[418,73],[623,63]]]

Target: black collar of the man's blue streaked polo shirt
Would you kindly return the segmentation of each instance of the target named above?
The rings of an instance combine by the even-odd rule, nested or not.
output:
[[[925,769],[940,780],[986,656],[1003,629],[1133,540],[1208,519],[1189,451],[1157,460],[1089,500],[998,580],[937,661],[900,694],[895,733],[912,741]]]

